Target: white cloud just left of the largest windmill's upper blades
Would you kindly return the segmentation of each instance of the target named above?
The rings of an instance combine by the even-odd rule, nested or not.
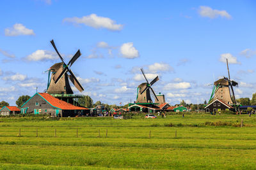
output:
[[[56,52],[51,52],[47,50],[36,50],[26,57],[29,61],[38,61],[38,60],[56,60],[58,59]]]

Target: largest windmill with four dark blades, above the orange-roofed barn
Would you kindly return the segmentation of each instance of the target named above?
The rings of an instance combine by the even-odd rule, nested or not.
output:
[[[49,94],[73,94],[73,91],[70,87],[68,78],[74,84],[74,86],[80,92],[82,92],[84,90],[82,85],[79,83],[76,76],[70,69],[72,64],[74,64],[74,62],[78,59],[78,57],[80,57],[80,55],[81,55],[80,50],[78,50],[76,52],[76,54],[72,57],[72,59],[70,59],[68,64],[65,64],[63,58],[61,57],[60,53],[58,52],[58,50],[54,44],[53,39],[51,41],[51,44],[54,47],[54,49],[56,50],[56,52],[58,53],[58,56],[60,57],[61,62],[54,64],[48,70],[49,75],[50,75],[50,71],[52,74],[51,74],[51,80],[49,79],[50,76],[48,76],[47,93],[49,93]]]

